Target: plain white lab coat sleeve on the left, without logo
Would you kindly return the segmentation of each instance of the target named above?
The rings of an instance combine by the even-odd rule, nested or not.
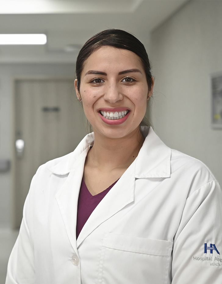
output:
[[[35,283],[34,247],[30,238],[27,222],[29,207],[28,194],[23,208],[23,219],[20,226],[20,232],[9,257],[6,284]]]

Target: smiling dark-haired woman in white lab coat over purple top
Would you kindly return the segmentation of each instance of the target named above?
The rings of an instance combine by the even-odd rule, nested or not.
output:
[[[76,69],[94,134],[38,169],[6,283],[221,284],[220,186],[140,127],[154,84],[144,46],[102,31]]]

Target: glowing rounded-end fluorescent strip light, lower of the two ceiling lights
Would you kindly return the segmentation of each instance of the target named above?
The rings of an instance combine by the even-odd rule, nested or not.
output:
[[[45,34],[0,34],[0,44],[46,44]]]

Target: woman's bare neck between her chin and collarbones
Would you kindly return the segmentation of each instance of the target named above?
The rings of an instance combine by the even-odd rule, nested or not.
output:
[[[87,156],[87,162],[100,169],[127,169],[137,157],[144,142],[140,129],[127,137],[108,138],[95,132],[94,145]]]

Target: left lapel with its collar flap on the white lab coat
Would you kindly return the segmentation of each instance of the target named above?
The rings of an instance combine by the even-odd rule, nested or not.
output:
[[[76,249],[76,218],[79,189],[83,176],[85,158],[93,143],[94,134],[90,133],[84,137],[72,153],[67,154],[59,163],[48,169],[57,176],[68,175],[66,181],[56,193],[55,198],[68,238],[74,249]],[[55,159],[56,161],[57,159]]]

